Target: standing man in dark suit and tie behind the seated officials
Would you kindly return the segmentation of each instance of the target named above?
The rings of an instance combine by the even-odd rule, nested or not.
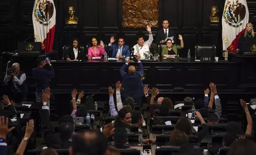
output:
[[[164,20],[162,25],[163,25],[163,28],[161,28],[160,30],[157,31],[157,34],[155,37],[155,43],[163,44],[163,43],[165,43],[165,38],[174,36],[173,42],[174,42],[174,44],[176,44],[177,40],[176,40],[175,32],[168,28],[169,21]]]

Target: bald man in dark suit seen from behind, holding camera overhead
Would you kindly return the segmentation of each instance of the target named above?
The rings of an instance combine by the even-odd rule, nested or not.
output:
[[[139,71],[136,72],[134,66],[129,66],[131,62],[130,59],[122,66],[120,69],[120,74],[122,77],[122,87],[124,88],[123,96],[125,98],[132,97],[134,100],[137,100],[138,105],[142,105],[142,96],[144,95],[144,85],[142,83],[142,74],[144,72],[142,62],[138,60]],[[128,68],[129,66],[129,68]],[[126,72],[128,68],[128,73]]]

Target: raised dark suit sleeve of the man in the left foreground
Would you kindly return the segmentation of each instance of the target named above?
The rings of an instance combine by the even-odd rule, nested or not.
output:
[[[41,129],[43,132],[44,140],[48,146],[48,144],[50,144],[50,140],[54,136],[54,131],[53,131],[53,127],[50,123],[49,110],[47,110],[47,109],[42,109],[42,111],[41,111],[41,124],[42,124]]]

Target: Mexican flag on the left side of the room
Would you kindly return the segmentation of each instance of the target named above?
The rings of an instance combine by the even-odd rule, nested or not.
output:
[[[32,20],[35,42],[42,42],[45,53],[52,51],[56,23],[53,0],[35,0]]]

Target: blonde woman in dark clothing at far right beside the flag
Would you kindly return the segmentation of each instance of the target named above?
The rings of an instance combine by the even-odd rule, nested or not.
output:
[[[256,37],[254,37],[254,36],[255,36],[255,33],[253,30],[252,23],[247,23],[246,30],[244,33],[241,34],[240,39],[238,41],[237,48],[241,49],[242,43],[256,42]],[[239,54],[242,54],[243,51],[240,51],[240,52],[239,52]]]

